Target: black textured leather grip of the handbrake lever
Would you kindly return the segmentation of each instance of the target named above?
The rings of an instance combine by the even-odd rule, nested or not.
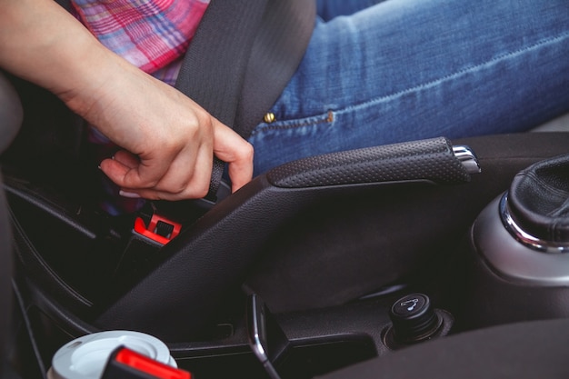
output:
[[[470,175],[451,142],[439,137],[304,158],[276,167],[267,179],[277,187],[308,188],[414,180],[453,184],[470,181]]]

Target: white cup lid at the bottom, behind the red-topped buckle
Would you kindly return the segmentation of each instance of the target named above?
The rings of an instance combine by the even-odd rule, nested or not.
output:
[[[99,379],[109,356],[118,346],[125,346],[162,364],[177,367],[168,347],[156,337],[131,331],[115,330],[87,334],[57,350],[48,379]]]

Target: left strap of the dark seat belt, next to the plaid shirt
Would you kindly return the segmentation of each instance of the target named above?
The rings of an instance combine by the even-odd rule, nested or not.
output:
[[[212,0],[186,52],[175,87],[233,128],[246,66],[267,0]],[[207,198],[224,172],[215,157]]]

